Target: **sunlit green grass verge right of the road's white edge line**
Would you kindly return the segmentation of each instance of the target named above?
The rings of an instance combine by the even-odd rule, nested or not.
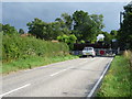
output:
[[[116,56],[97,97],[132,97],[132,69],[129,61]]]

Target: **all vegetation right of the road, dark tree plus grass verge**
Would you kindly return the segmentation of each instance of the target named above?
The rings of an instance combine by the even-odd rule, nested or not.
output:
[[[98,97],[132,97],[132,3],[124,7],[117,40],[124,53],[114,57]],[[130,50],[130,51],[127,51]]]

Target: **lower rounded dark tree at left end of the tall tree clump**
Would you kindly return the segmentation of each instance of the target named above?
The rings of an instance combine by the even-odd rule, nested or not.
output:
[[[46,23],[35,18],[34,21],[29,22],[26,25],[29,26],[29,33],[35,35],[37,38],[52,40],[56,36],[55,33],[57,33],[55,32],[55,24],[57,26],[57,23]]]

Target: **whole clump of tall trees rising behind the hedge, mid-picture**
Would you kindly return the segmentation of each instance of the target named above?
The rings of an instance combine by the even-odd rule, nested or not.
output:
[[[75,11],[72,15],[62,13],[55,22],[46,23],[40,19],[29,22],[29,32],[44,40],[56,40],[57,36],[74,34],[77,41],[96,42],[96,36],[103,28],[102,14],[91,14],[82,10]]]

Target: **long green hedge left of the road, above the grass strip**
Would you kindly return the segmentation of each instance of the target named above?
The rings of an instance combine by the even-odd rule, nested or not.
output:
[[[3,35],[2,37],[2,59],[6,62],[29,56],[58,56],[67,52],[68,46],[65,43],[53,43],[33,36]]]

